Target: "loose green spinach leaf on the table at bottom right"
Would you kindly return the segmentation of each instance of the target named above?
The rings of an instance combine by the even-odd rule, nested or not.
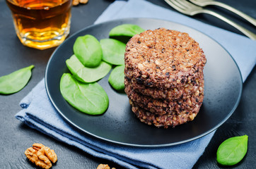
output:
[[[217,161],[221,165],[235,165],[245,156],[248,148],[248,136],[226,139],[217,151]]]

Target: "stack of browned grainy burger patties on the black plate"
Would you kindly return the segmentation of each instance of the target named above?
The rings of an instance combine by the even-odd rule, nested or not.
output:
[[[187,33],[158,28],[134,35],[124,61],[124,90],[141,122],[168,128],[194,120],[204,99],[206,58]]]

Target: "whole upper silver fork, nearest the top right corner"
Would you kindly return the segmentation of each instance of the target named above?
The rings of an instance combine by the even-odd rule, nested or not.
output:
[[[209,5],[215,5],[215,6],[221,6],[222,8],[226,8],[227,10],[236,13],[237,15],[240,15],[240,17],[244,18],[248,22],[252,23],[252,25],[256,26],[256,20],[255,18],[250,17],[249,15],[246,15],[245,13],[238,11],[237,9],[228,6],[227,4],[223,4],[219,1],[214,0],[190,0],[193,4],[196,4],[198,6],[209,6]]]

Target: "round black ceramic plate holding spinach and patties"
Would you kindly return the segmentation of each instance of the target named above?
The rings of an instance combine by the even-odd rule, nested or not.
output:
[[[107,77],[98,83],[109,96],[109,108],[103,115],[87,115],[70,106],[59,91],[59,80],[69,72],[65,61],[73,54],[76,37],[93,35],[108,38],[108,32],[124,23],[132,23],[145,30],[165,27],[187,32],[204,50],[207,63],[204,68],[204,102],[197,117],[190,123],[175,128],[157,128],[141,123],[131,111],[126,94],[115,92]],[[209,134],[223,124],[238,106],[242,92],[242,78],[238,66],[223,47],[202,32],[185,25],[165,20],[128,18],[92,25],[66,39],[52,54],[47,64],[45,84],[54,107],[71,125],[87,134],[108,142],[130,146],[169,146],[189,142]]]

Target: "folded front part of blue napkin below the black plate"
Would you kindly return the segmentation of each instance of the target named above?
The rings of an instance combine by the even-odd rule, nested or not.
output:
[[[52,106],[42,80],[21,101],[16,118],[54,139],[76,146],[88,154],[105,158],[125,168],[192,168],[214,132],[201,139],[163,148],[139,148],[103,142],[79,132],[62,119]]]

